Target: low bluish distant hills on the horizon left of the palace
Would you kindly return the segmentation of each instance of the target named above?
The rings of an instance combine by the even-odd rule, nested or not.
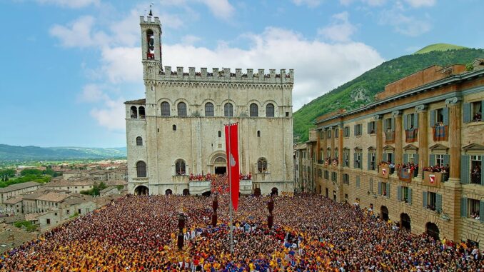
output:
[[[85,158],[125,158],[126,147],[39,147],[0,144],[0,161],[54,161]]]

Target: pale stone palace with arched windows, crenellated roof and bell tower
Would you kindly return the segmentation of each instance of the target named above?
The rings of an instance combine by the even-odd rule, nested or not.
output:
[[[163,69],[158,17],[140,25],[146,99],[125,103],[128,191],[181,194],[190,190],[188,174],[223,173],[231,115],[241,173],[252,173],[252,190],[243,191],[292,192],[293,70]]]

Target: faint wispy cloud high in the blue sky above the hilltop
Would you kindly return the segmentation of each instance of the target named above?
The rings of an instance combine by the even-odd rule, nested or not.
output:
[[[406,36],[420,36],[432,29],[432,25],[428,18],[415,18],[413,16],[405,16],[400,11],[383,11],[380,19],[380,24],[388,24],[393,26],[395,31]]]

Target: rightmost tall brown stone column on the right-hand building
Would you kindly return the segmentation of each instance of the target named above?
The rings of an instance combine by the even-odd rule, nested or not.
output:
[[[445,99],[449,108],[449,146],[450,178],[449,181],[460,181],[460,98]]]

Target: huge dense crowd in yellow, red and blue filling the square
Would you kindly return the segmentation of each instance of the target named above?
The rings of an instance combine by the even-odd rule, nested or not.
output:
[[[1,256],[0,271],[484,271],[478,248],[412,234],[318,195],[242,196],[229,243],[226,178],[213,197],[125,196]],[[225,183],[223,183],[225,182]],[[221,190],[218,190],[221,188]],[[186,217],[178,250],[178,215]]]

